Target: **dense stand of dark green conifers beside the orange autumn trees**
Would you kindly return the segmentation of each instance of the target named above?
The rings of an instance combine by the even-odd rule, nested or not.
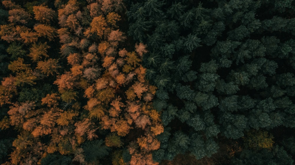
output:
[[[143,64],[158,88],[153,105],[164,125],[154,160],[218,156],[220,138],[240,143],[263,138],[266,144],[255,142],[255,151],[244,142],[232,163],[280,164],[280,153],[283,164],[292,164],[278,143],[283,138],[273,144],[260,131],[294,132],[294,5],[281,0],[130,5],[128,34],[147,45]],[[253,130],[260,131],[246,133]]]

